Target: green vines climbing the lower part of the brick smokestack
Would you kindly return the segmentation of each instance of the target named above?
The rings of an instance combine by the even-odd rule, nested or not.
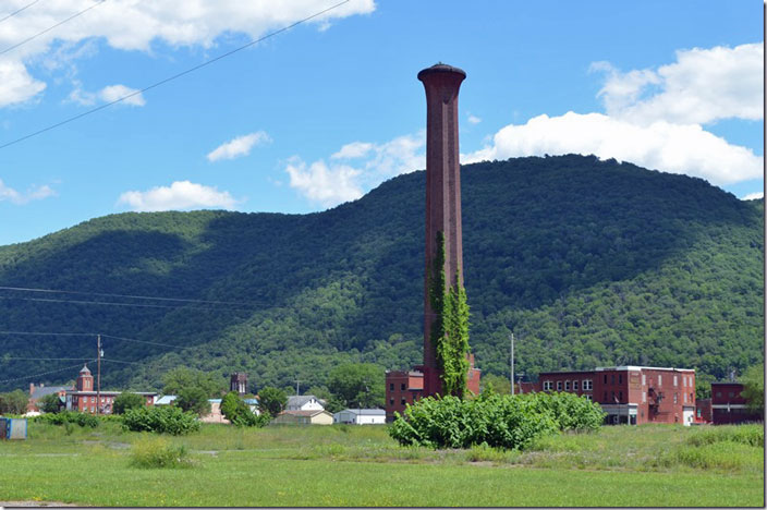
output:
[[[448,289],[445,276],[445,234],[437,232],[437,253],[429,278],[429,300],[435,319],[431,323],[431,345],[441,369],[442,391],[463,397],[468,372],[468,304],[461,286],[460,274],[455,284]]]

